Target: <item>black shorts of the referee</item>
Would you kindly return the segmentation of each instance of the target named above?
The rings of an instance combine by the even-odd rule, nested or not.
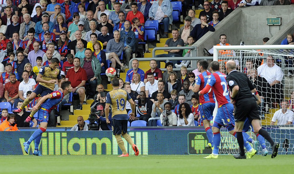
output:
[[[246,118],[250,122],[253,119],[260,119],[258,106],[253,96],[240,99],[235,104],[235,122],[245,121]]]

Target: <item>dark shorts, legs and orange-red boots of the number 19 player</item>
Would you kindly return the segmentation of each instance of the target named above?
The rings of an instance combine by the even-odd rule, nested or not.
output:
[[[121,149],[121,151],[123,152],[123,154],[121,154],[119,157],[127,157],[129,156],[125,145],[123,143],[123,139],[121,138],[121,136],[123,136],[123,138],[125,138],[125,140],[132,146],[133,151],[135,152],[135,155],[138,156],[139,155],[139,150],[136,146],[136,144],[134,144],[131,136],[127,133],[127,129],[128,129],[128,120],[116,120],[116,119],[112,119],[112,125],[113,125],[113,135],[116,138],[117,141],[117,145],[119,146],[119,148]]]

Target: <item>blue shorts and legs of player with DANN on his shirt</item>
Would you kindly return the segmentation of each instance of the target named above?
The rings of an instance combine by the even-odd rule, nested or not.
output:
[[[211,148],[213,150],[213,134],[210,128],[210,121],[213,119],[212,114],[215,108],[215,103],[204,103],[199,107],[201,107],[201,109],[199,109],[202,117],[201,119],[203,119],[203,126],[209,141],[206,148]]]

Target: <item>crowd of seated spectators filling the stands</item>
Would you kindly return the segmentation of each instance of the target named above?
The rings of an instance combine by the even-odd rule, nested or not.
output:
[[[166,47],[191,46],[208,31],[215,31],[214,26],[235,8],[290,5],[288,0],[271,0],[273,3],[269,0],[204,1],[200,2],[204,10],[199,18],[195,18],[195,11],[188,8],[192,1],[181,1],[184,4],[184,26],[171,31],[173,37],[166,41]],[[203,125],[198,114],[198,93],[191,90],[197,76],[201,74],[199,68],[187,74],[190,61],[167,62],[167,71],[162,73],[156,60],[151,60],[150,70],[144,72],[139,68],[139,61],[133,58],[133,53],[135,57],[143,56],[138,43],[144,40],[144,23],[147,20],[158,20],[163,28],[163,32],[160,32],[161,38],[168,37],[168,28],[173,23],[171,1],[6,0],[0,4],[1,102],[9,102],[12,108],[19,108],[38,84],[40,68],[49,65],[56,58],[61,70],[61,80],[71,81],[73,92],[79,95],[80,104],[76,109],[82,109],[83,99],[87,95],[88,99],[94,99],[91,107],[103,110],[105,95],[103,97],[101,92],[107,93],[104,88],[108,83],[105,70],[108,67],[121,70],[130,68],[126,72],[125,82],[120,79],[120,88],[126,90],[133,100],[138,100],[138,117],[129,120],[130,122],[144,120],[154,125],[151,120],[158,119],[164,126]],[[293,44],[293,35],[289,34],[281,44]],[[225,35],[220,36],[218,45],[229,45]],[[165,51],[167,54],[156,57],[190,55],[190,50]],[[128,67],[131,59],[132,67]],[[284,99],[281,84],[284,74],[275,64],[273,57],[267,59],[267,63],[263,65],[257,65],[255,61],[246,62],[245,72],[255,82],[262,102],[280,104]],[[293,66],[293,58],[289,58],[288,62],[289,67]],[[220,71],[223,73],[224,65],[220,62]],[[181,68],[179,77],[173,67]],[[293,72],[289,71],[288,75],[293,75]],[[85,88],[86,83],[88,90]],[[260,87],[259,83],[263,85]],[[56,83],[55,90],[57,89]],[[293,99],[290,101],[290,107],[293,108]],[[30,101],[25,110],[31,111],[36,102],[37,98]],[[60,106],[68,102],[69,95],[66,95]],[[284,101],[284,104],[289,104],[289,101]],[[183,114],[179,111],[181,107],[186,110]],[[130,109],[129,104],[127,109]],[[18,126],[28,126],[29,123],[24,124],[28,114],[26,111],[11,119],[15,119]],[[262,111],[264,114],[265,110]],[[3,109],[0,123],[4,122],[7,116],[8,113]],[[102,116],[103,112],[101,117],[98,116],[103,122],[105,119],[103,120]],[[36,120],[32,121],[36,126]],[[291,124],[293,119],[282,121],[284,122]],[[54,126],[54,123],[51,126]],[[106,124],[102,127],[110,129]]]

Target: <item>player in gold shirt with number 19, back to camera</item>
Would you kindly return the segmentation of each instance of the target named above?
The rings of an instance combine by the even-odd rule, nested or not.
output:
[[[119,157],[123,156],[129,156],[126,148],[124,146],[123,140],[121,138],[121,135],[123,138],[126,139],[126,141],[132,145],[132,148],[135,152],[135,155],[139,155],[139,150],[134,144],[131,136],[127,134],[127,129],[128,129],[128,114],[126,112],[126,101],[130,102],[131,107],[132,107],[132,113],[130,114],[130,117],[134,117],[134,111],[135,111],[135,103],[133,99],[129,96],[129,94],[122,90],[119,89],[119,81],[117,78],[114,78],[111,81],[111,85],[113,90],[109,92],[106,95],[106,105],[105,105],[105,118],[106,118],[106,123],[109,124],[110,121],[108,120],[108,114],[109,114],[109,106],[111,105],[112,109],[112,132],[113,135],[116,138],[117,144],[119,148],[121,148],[121,151],[123,151],[123,154]]]

